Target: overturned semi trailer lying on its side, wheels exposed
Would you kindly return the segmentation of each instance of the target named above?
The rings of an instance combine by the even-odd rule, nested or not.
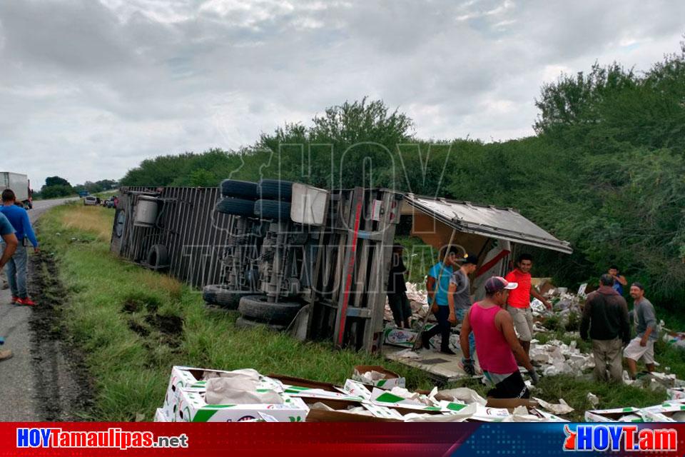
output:
[[[480,278],[501,273],[517,243],[571,252],[512,209],[275,180],[123,188],[111,250],[217,293],[238,308],[241,325],[378,351],[401,216],[429,246],[480,253]]]

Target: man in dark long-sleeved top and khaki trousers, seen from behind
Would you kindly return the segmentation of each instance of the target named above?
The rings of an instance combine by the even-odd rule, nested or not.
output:
[[[580,337],[587,341],[589,329],[589,338],[592,339],[597,381],[622,381],[621,349],[630,340],[628,306],[613,286],[612,275],[603,274],[599,278],[599,288],[587,296],[580,322]]]

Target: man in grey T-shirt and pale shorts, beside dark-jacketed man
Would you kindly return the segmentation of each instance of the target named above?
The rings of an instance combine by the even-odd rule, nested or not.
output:
[[[659,336],[656,328],[656,314],[651,301],[644,298],[644,286],[641,283],[632,283],[630,296],[634,300],[634,322],[637,336],[633,338],[623,351],[628,362],[630,378],[635,379],[637,374],[637,361],[642,359],[647,371],[654,371],[654,341]]]

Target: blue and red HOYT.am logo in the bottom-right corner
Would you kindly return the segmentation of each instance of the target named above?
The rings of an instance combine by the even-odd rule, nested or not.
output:
[[[564,426],[564,451],[677,451],[674,428],[638,428],[631,424]]]

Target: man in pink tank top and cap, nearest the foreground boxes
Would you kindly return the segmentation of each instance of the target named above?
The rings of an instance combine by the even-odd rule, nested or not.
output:
[[[519,363],[527,370],[534,384],[538,377],[530,358],[514,331],[514,320],[504,305],[509,291],[517,288],[501,276],[492,276],[485,281],[485,298],[474,303],[467,311],[460,332],[462,353],[470,353],[469,333],[476,337],[476,353],[483,374],[494,384],[487,392],[492,398],[529,398],[530,392],[519,372]],[[471,359],[464,361],[464,370],[470,376],[475,374]]]

